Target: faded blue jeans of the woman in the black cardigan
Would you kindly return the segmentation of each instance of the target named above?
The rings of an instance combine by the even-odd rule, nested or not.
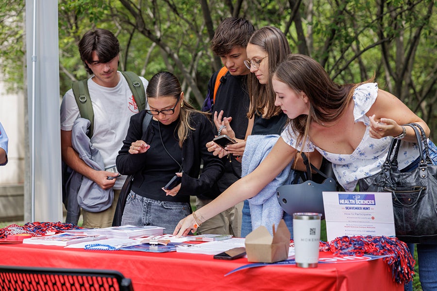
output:
[[[161,226],[172,234],[178,222],[191,213],[188,202],[168,202],[149,199],[133,191],[126,198],[121,225]]]

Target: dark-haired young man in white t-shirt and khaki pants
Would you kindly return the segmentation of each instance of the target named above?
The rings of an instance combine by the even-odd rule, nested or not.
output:
[[[125,176],[117,177],[114,171],[118,150],[138,107],[128,82],[118,71],[119,43],[110,31],[96,29],[84,34],[79,42],[79,52],[85,69],[92,75],[88,91],[94,111],[94,130],[91,144],[98,149],[104,162],[104,171],[89,167],[74,150],[71,132],[74,121],[81,117],[72,89],[65,94],[61,104],[61,154],[62,160],[74,171],[94,181],[103,190],[114,189],[112,206],[101,212],[82,210],[83,227],[108,227],[112,225],[115,207]],[[146,89],[148,81],[140,77]]]

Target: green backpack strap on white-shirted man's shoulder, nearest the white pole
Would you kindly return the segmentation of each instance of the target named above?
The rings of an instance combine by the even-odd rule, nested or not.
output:
[[[73,89],[74,98],[76,99],[77,107],[81,117],[88,119],[91,124],[86,135],[91,139],[94,131],[94,111],[91,103],[91,97],[88,92],[88,79],[73,82],[71,86]]]

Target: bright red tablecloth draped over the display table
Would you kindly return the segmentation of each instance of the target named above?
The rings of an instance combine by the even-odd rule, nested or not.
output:
[[[325,253],[320,253],[325,256]],[[392,280],[382,259],[354,263],[319,264],[302,269],[295,265],[249,268],[224,276],[248,264],[209,255],[96,251],[60,246],[1,244],[0,265],[111,269],[130,278],[142,290],[403,290]]]

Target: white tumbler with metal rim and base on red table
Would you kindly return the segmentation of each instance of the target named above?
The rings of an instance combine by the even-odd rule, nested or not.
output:
[[[319,261],[320,213],[293,213],[293,241],[296,266],[316,268]]]

